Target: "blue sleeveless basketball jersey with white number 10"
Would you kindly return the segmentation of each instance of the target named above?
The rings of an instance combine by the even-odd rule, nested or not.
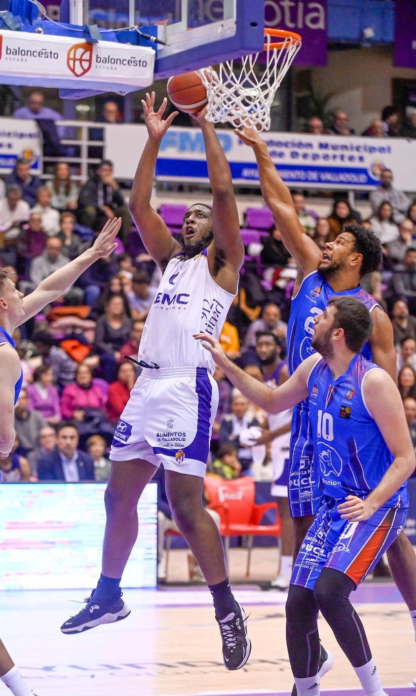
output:
[[[371,370],[381,367],[357,354],[348,370],[334,380],[321,358],[308,378],[319,489],[328,498],[366,498],[392,464],[392,454],[362,395],[362,383]],[[385,506],[408,507],[406,484]]]

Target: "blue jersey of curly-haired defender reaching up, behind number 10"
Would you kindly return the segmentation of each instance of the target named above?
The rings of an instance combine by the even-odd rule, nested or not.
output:
[[[291,299],[289,322],[287,322],[287,367],[289,375],[296,367],[315,351],[311,341],[314,335],[314,318],[323,313],[331,296],[343,295],[360,300],[369,312],[380,305],[368,292],[355,287],[353,290],[334,292],[329,283],[323,279],[319,271],[313,271],[303,278],[302,285],[296,296]],[[367,343],[362,354],[371,360],[371,349]]]

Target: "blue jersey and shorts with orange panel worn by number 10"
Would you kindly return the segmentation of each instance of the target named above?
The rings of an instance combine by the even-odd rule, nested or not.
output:
[[[310,425],[323,498],[296,558],[291,584],[312,590],[325,567],[341,571],[358,585],[406,521],[406,483],[368,520],[341,519],[337,512],[346,496],[367,498],[393,461],[362,393],[371,370],[381,367],[357,354],[338,379],[323,358],[310,372]]]

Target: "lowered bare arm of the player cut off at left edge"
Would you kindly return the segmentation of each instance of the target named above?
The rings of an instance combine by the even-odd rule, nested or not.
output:
[[[0,459],[6,459],[15,442],[15,383],[22,367],[14,348],[0,345]]]

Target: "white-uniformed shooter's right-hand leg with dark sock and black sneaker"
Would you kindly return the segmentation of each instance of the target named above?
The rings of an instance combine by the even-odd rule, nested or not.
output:
[[[202,506],[204,480],[201,476],[166,470],[165,484],[175,522],[207,580],[214,601],[225,667],[238,670],[246,664],[251,649],[246,614],[231,592],[218,527]]]

